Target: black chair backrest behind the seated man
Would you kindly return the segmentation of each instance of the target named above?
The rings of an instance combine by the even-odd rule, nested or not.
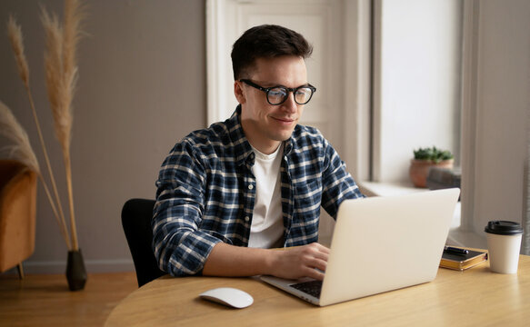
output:
[[[122,225],[135,263],[138,287],[165,275],[156,263],[153,242],[153,207],[155,200],[131,199],[122,209]]]

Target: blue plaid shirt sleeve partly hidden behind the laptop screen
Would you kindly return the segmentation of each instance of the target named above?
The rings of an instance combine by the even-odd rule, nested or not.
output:
[[[322,175],[322,207],[332,217],[345,199],[364,198],[346,164],[341,160],[331,144],[324,139],[324,171]]]

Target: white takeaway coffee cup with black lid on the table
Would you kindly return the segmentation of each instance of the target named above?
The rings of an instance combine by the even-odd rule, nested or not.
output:
[[[491,221],[485,226],[492,272],[516,273],[523,227],[520,223]]]

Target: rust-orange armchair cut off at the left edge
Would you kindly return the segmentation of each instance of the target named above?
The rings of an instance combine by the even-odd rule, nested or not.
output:
[[[18,266],[35,251],[37,174],[25,164],[0,160],[0,272]]]

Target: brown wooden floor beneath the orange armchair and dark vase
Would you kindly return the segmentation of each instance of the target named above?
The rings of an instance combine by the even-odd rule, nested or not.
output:
[[[70,292],[64,274],[0,274],[0,326],[103,326],[138,288],[135,272],[88,274],[83,291]]]

